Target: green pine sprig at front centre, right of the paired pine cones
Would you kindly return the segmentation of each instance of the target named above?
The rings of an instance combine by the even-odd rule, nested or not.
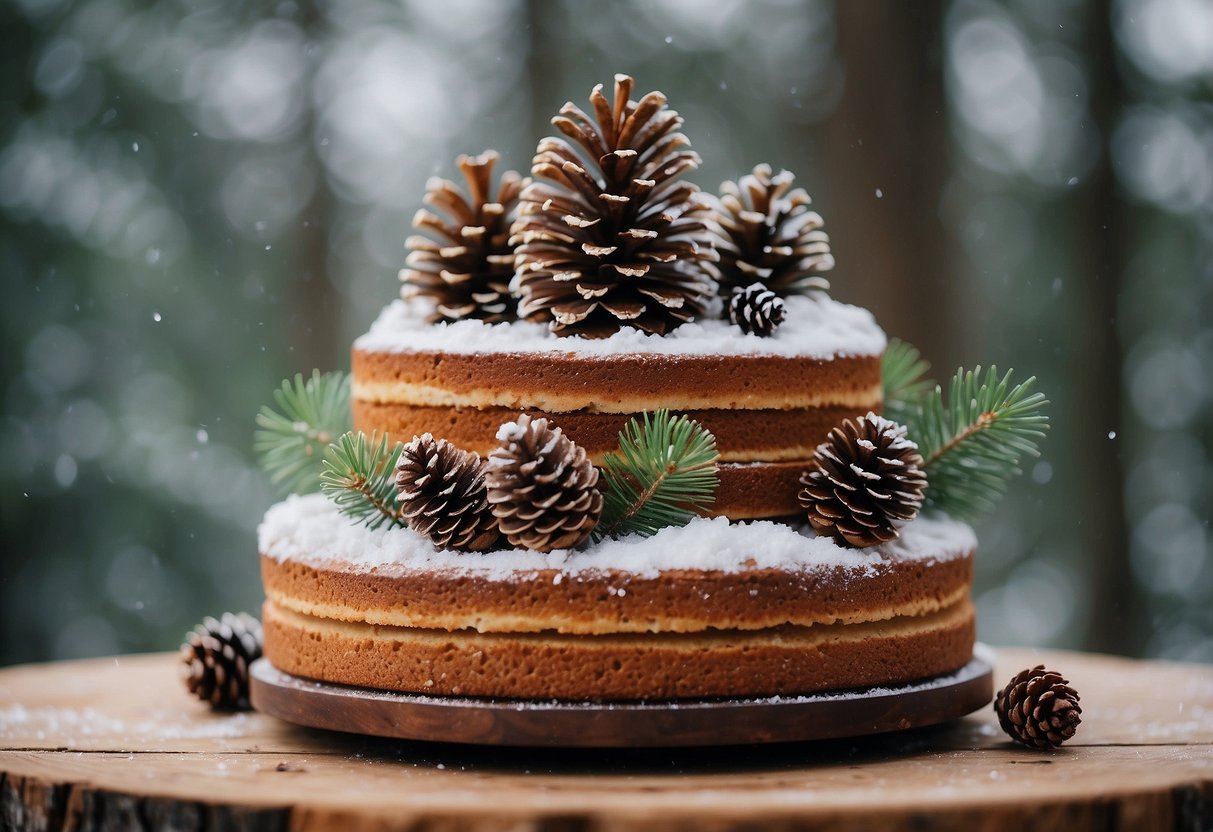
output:
[[[654,535],[685,525],[712,505],[719,477],[716,437],[699,422],[657,410],[632,418],[603,461],[605,503],[594,538]]]

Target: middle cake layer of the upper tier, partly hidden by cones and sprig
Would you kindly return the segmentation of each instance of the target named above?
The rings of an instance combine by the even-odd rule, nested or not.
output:
[[[549,414],[518,408],[426,406],[402,403],[355,400],[354,428],[378,431],[393,439],[408,441],[432,433],[466,451],[486,456],[497,446],[497,428],[522,414],[547,417],[565,435],[586,449],[594,462],[619,448],[619,432],[632,414],[599,414],[585,410]],[[807,460],[822,443],[830,428],[844,418],[862,416],[856,408],[796,408],[791,410],[689,410],[695,420],[716,437],[716,448],[724,462],[784,462]]]

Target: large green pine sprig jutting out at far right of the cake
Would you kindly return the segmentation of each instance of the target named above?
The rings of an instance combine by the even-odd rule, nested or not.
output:
[[[1040,455],[1048,399],[1032,392],[1035,377],[1014,386],[1010,378],[993,366],[984,375],[957,370],[946,404],[938,386],[923,400],[909,427],[926,462],[926,508],[976,519],[1020,473],[1020,458]]]

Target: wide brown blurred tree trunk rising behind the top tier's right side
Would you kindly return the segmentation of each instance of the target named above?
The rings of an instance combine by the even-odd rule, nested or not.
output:
[[[873,309],[932,364],[959,363],[961,321],[940,220],[947,170],[938,2],[837,5],[845,91],[825,124],[821,211],[836,297]]]

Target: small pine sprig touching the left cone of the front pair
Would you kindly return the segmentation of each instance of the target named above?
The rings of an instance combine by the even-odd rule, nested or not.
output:
[[[404,528],[395,500],[395,461],[403,444],[388,448],[387,437],[361,431],[343,433],[329,446],[320,473],[320,490],[348,518],[378,529],[385,523]]]

